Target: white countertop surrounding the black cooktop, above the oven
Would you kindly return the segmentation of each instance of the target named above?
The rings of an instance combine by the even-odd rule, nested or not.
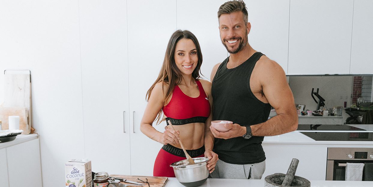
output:
[[[294,131],[277,136],[265,136],[262,144],[373,145],[373,141],[316,141],[300,132]]]

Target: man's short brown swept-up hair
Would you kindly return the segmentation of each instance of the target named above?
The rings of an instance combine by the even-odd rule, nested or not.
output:
[[[245,23],[248,22],[246,4],[242,0],[227,1],[222,4],[217,11],[217,18],[219,19],[222,14],[230,14],[233,12],[242,12],[242,14],[244,14],[243,19]]]

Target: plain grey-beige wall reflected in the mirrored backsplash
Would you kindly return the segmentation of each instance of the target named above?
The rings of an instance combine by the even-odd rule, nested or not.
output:
[[[297,104],[305,104],[305,110],[316,110],[317,103],[311,97],[312,88],[325,99],[327,109],[334,106],[347,106],[351,103],[353,76],[324,76],[324,77],[289,77],[289,86]],[[315,97],[316,100],[318,100]]]

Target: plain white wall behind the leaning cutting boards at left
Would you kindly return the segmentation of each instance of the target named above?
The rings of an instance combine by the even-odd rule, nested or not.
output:
[[[78,1],[0,1],[0,71],[12,69],[31,70],[43,186],[63,186],[64,163],[85,156]]]

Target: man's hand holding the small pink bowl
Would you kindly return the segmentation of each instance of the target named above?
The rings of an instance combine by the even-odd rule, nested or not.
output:
[[[246,134],[246,128],[244,126],[238,125],[237,123],[225,124],[224,126],[225,128],[229,129],[227,132],[219,132],[215,128],[210,126],[211,133],[214,135],[215,138],[229,139]]]

